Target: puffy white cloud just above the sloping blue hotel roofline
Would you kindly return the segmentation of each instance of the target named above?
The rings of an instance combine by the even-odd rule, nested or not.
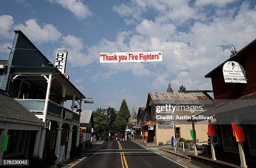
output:
[[[15,29],[20,29],[25,34],[36,37],[36,42],[53,42],[58,41],[61,38],[61,32],[59,32],[54,25],[46,24],[41,27],[36,20],[30,19],[25,22],[25,25],[19,24],[14,26]]]

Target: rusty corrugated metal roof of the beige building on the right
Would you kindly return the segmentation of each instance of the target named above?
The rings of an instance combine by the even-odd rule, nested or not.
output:
[[[212,104],[212,101],[203,93],[169,93],[169,92],[148,92],[146,106],[149,106],[150,99],[154,104]]]

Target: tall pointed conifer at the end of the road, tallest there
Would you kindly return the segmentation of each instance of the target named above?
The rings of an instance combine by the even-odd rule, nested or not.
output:
[[[125,133],[125,127],[128,124],[129,118],[130,118],[130,111],[128,109],[127,103],[125,99],[123,99],[122,104],[120,106],[120,110],[118,111],[118,114],[116,116],[116,120],[114,122],[115,127],[118,131],[121,133]]]

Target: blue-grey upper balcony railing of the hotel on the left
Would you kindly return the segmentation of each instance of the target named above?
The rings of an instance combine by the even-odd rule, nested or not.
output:
[[[45,100],[38,100],[38,99],[15,99],[18,101],[22,106],[34,113],[43,113],[44,112],[44,104]],[[63,109],[63,114],[61,116],[61,111]],[[80,115],[71,111],[61,105],[55,103],[54,101],[49,100],[47,113],[53,114],[63,119],[73,120],[73,121],[80,121]]]

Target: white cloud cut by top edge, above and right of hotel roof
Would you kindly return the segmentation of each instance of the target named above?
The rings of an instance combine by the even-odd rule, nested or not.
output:
[[[55,2],[64,8],[70,10],[79,19],[92,16],[92,11],[81,0],[49,0],[51,3]]]

